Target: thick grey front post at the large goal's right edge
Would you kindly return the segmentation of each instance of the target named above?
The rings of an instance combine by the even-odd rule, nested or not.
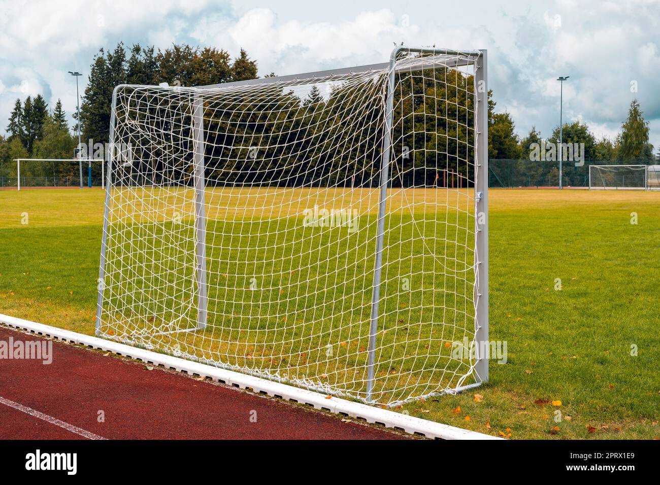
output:
[[[486,49],[477,59],[475,73],[477,110],[475,135],[477,160],[475,162],[475,346],[477,363],[475,378],[488,380],[488,55]]]

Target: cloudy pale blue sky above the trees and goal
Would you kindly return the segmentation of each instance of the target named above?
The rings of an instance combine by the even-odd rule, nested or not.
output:
[[[564,121],[613,137],[637,98],[660,147],[660,0],[0,0],[0,133],[16,98],[76,108],[99,48],[121,41],[241,48],[259,75],[385,62],[394,44],[488,49],[496,111],[518,135]],[[73,121],[73,120],[72,120]],[[73,123],[72,123],[73,124]]]

